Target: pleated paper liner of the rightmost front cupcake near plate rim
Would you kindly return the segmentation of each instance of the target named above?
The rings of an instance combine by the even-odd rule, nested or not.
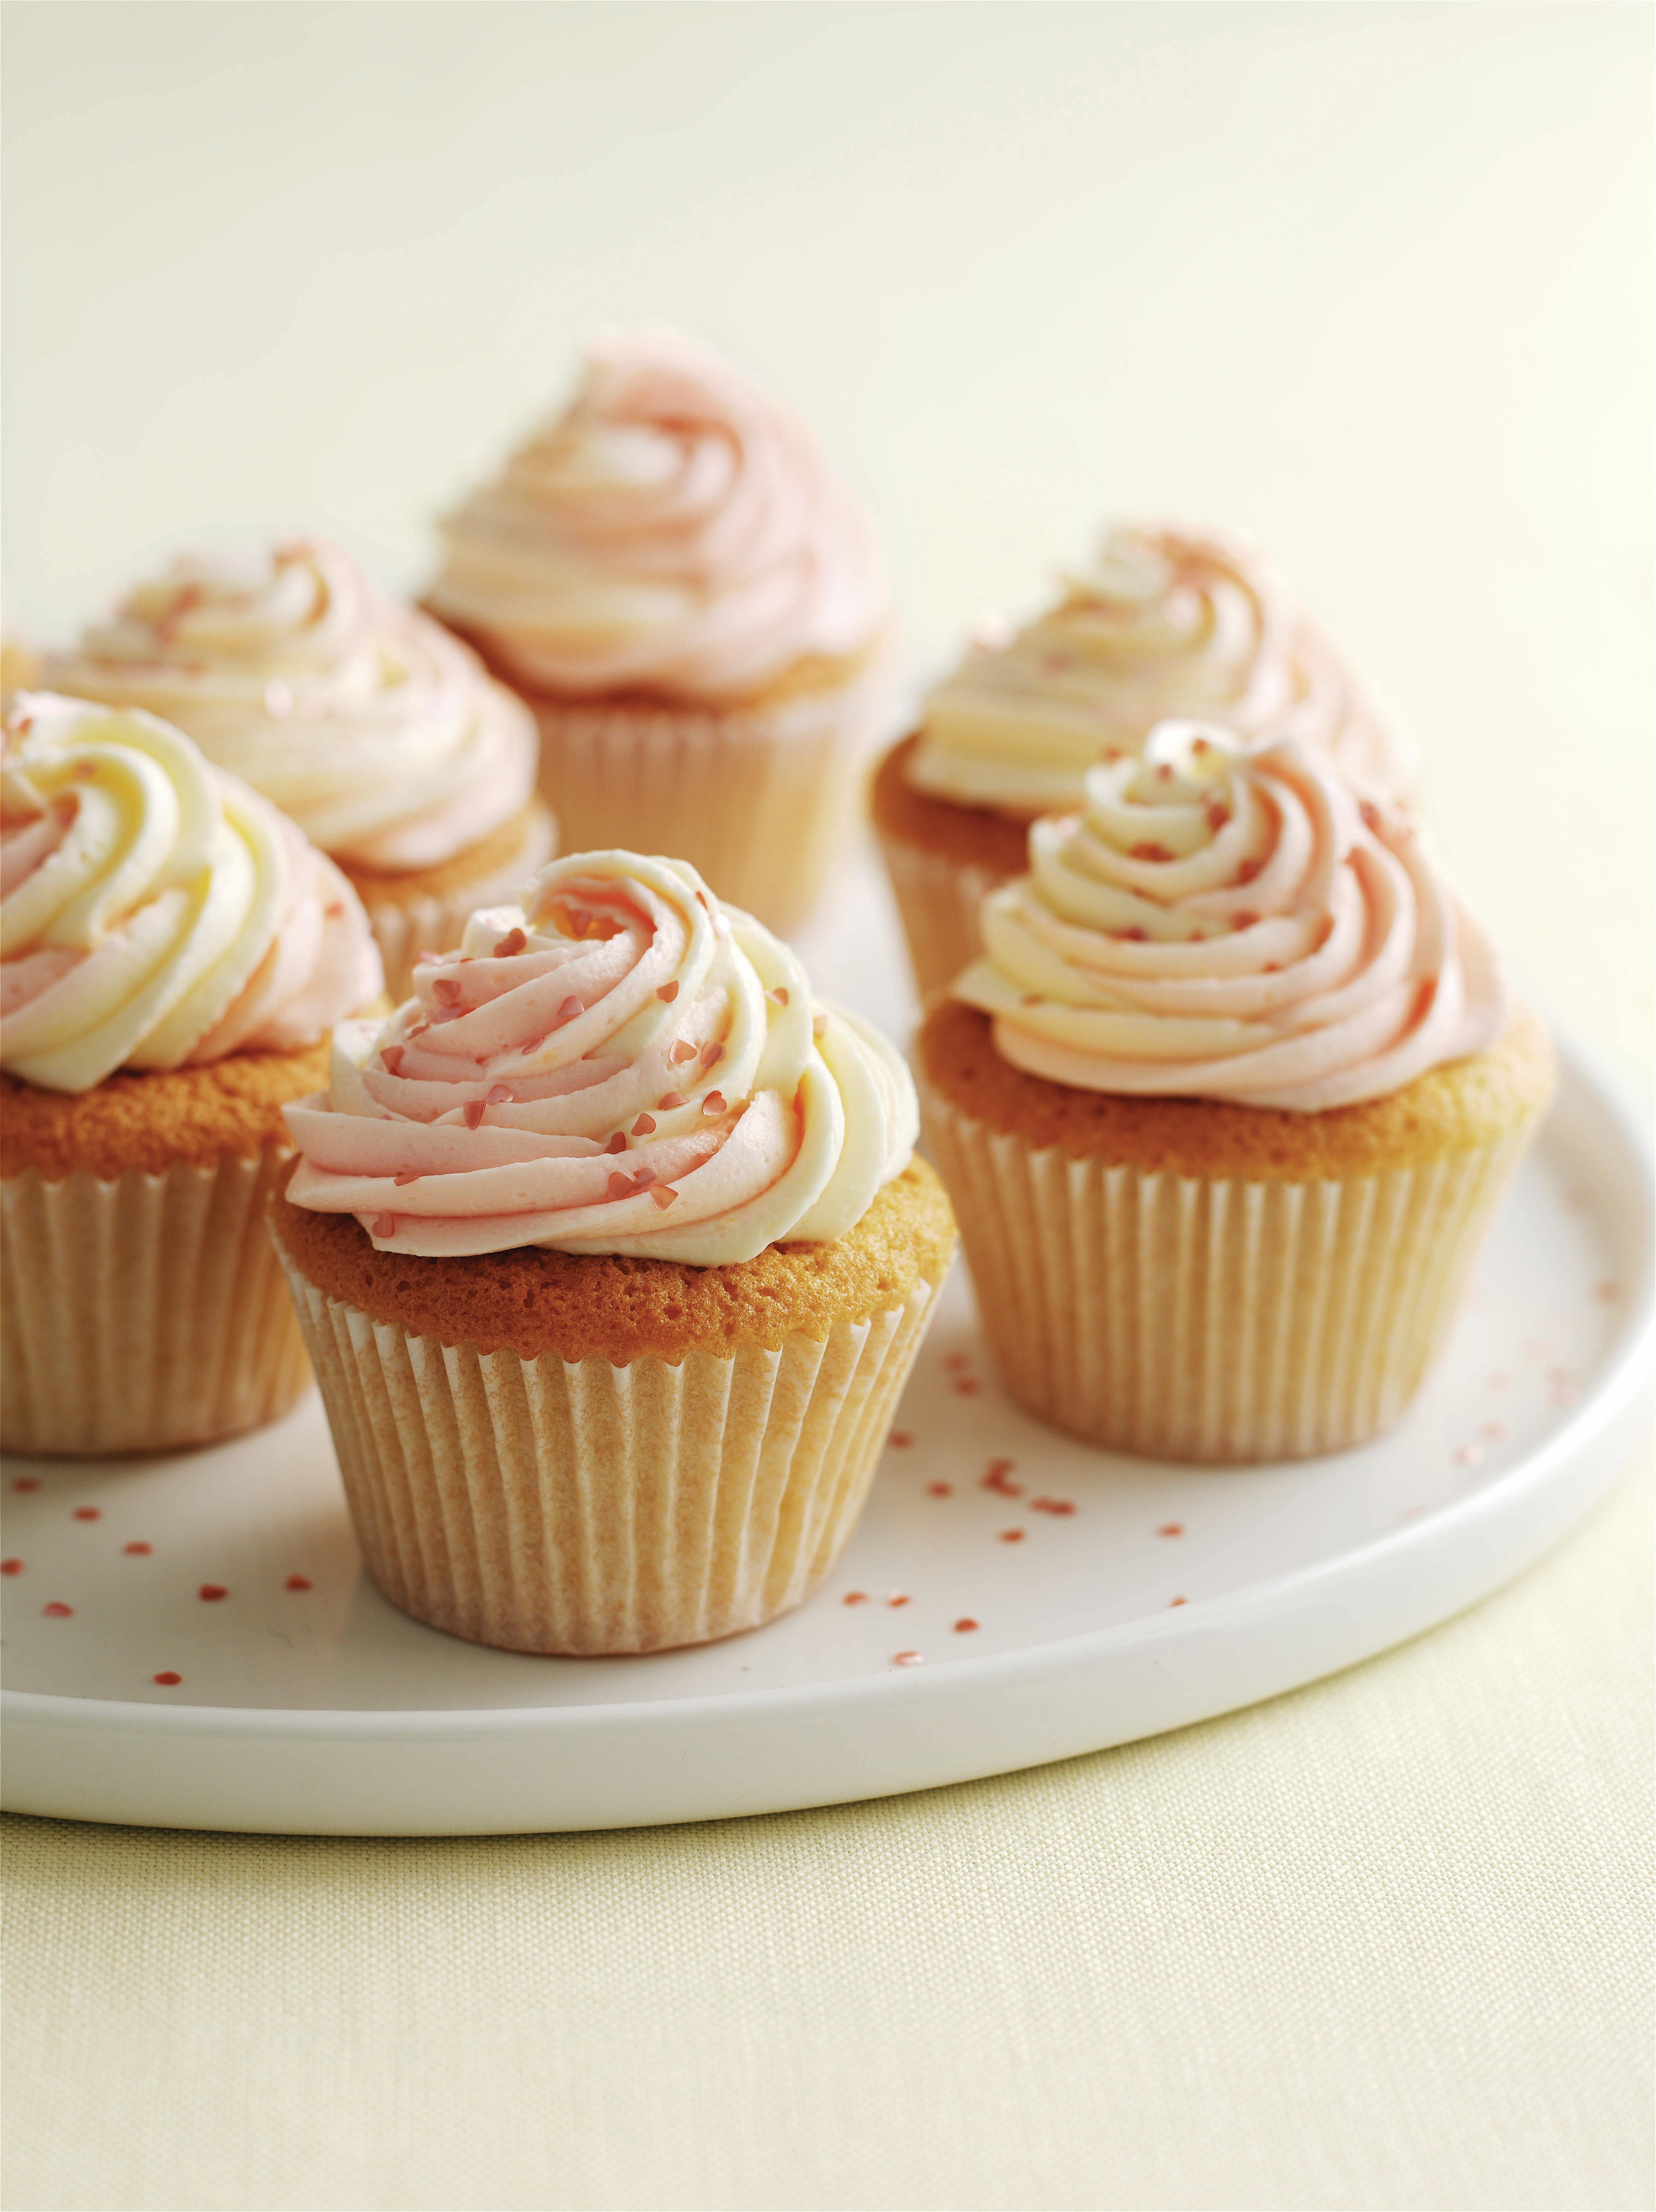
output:
[[[1033,1150],[931,1084],[922,1119],[1006,1389],[1059,1429],[1167,1460],[1304,1458],[1388,1429],[1530,1137],[1291,1183]]]

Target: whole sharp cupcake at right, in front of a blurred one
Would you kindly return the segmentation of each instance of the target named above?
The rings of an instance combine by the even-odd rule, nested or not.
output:
[[[1391,1427],[1552,1091],[1406,816],[1304,739],[1163,723],[982,929],[920,1104],[1013,1398],[1178,1460]]]

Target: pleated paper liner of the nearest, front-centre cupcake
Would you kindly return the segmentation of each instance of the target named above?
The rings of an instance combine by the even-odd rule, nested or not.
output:
[[[648,1652],[798,1606],[862,1509],[935,1290],[780,1352],[524,1360],[287,1265],[367,1571],[506,1650]]]

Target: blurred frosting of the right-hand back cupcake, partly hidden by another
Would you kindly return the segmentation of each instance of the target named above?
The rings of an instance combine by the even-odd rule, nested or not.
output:
[[[1408,761],[1258,553],[1183,529],[1114,529],[1055,608],[968,650],[926,699],[911,783],[1028,821],[1081,803],[1094,761],[1178,714],[1320,745],[1375,796]]]

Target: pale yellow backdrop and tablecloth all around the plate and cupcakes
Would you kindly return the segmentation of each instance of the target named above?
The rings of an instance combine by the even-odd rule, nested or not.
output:
[[[1643,7],[11,7],[7,619],[418,582],[604,321],[822,427],[918,666],[1254,531],[1649,1071]],[[11,1823],[9,2205],[1649,2203],[1649,1484],[1181,1736],[500,1843]]]

